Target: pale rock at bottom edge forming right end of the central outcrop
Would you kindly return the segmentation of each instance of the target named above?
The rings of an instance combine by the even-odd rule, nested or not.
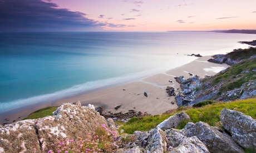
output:
[[[207,147],[198,137],[186,137],[183,132],[177,129],[166,130],[168,140],[168,152],[209,152]]]

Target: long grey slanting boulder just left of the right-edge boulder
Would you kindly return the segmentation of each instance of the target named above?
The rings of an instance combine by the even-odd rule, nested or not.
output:
[[[244,152],[228,134],[218,131],[206,123],[188,123],[182,130],[187,137],[196,136],[210,152]]]

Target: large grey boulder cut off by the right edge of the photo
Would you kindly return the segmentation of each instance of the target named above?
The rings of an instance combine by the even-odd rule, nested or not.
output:
[[[252,117],[238,111],[223,109],[220,121],[240,146],[256,150],[256,121]]]

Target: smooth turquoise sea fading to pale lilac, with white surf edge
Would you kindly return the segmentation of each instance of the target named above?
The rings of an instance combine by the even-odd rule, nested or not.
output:
[[[2,32],[0,115],[165,72],[196,59],[188,54],[248,48],[238,41],[255,37],[213,32]]]

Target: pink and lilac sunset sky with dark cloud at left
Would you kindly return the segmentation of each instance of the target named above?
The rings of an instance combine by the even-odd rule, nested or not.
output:
[[[255,6],[255,0],[0,0],[0,31],[256,29]]]

